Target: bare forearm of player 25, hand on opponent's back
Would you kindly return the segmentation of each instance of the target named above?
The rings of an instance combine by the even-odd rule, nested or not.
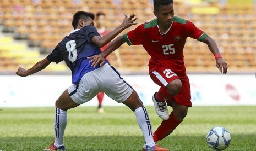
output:
[[[88,57],[89,59],[91,59],[89,61],[90,63],[92,62],[91,66],[96,67],[97,65],[99,65],[99,63],[100,66],[103,66],[105,63],[105,58],[113,51],[118,49],[123,43],[123,36],[119,36],[115,40],[113,40],[113,42],[111,42],[110,45],[108,45],[108,47],[106,48],[106,50],[104,50],[101,54]]]

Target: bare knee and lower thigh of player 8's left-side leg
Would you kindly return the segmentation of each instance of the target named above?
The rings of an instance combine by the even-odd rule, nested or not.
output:
[[[79,106],[79,104],[75,103],[72,98],[69,96],[68,89],[65,90],[62,95],[55,102],[55,106],[59,109],[67,111],[70,108],[74,108]]]

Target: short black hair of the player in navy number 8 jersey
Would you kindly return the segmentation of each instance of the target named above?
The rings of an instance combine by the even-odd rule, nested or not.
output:
[[[85,11],[78,11],[77,13],[75,13],[72,21],[72,26],[74,27],[74,29],[78,26],[79,19],[83,19],[84,21],[86,21],[87,18],[91,18],[92,20],[94,20],[95,15],[93,13]]]

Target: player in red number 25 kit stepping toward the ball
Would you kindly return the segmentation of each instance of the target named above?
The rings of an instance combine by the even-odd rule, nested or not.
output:
[[[183,48],[188,37],[208,45],[221,73],[227,73],[227,63],[222,59],[215,41],[192,22],[174,15],[172,0],[154,0],[156,19],[146,22],[132,31],[116,38],[100,55],[92,56],[93,66],[104,64],[104,59],[124,42],[128,45],[143,45],[151,56],[149,74],[160,86],[153,96],[156,113],[164,119],[154,132],[154,141],[170,135],[182,122],[192,106],[190,84],[183,60]],[[172,107],[168,115],[166,106]],[[144,147],[143,147],[144,148]],[[144,148],[145,149],[145,148]]]

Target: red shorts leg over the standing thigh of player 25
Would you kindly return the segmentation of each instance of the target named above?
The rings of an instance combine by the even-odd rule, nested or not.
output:
[[[190,91],[189,79],[188,78],[181,79],[181,82],[182,82],[182,88],[178,92],[178,94],[174,96],[174,99],[177,104],[190,107],[192,106],[192,103],[191,103],[191,91]]]

